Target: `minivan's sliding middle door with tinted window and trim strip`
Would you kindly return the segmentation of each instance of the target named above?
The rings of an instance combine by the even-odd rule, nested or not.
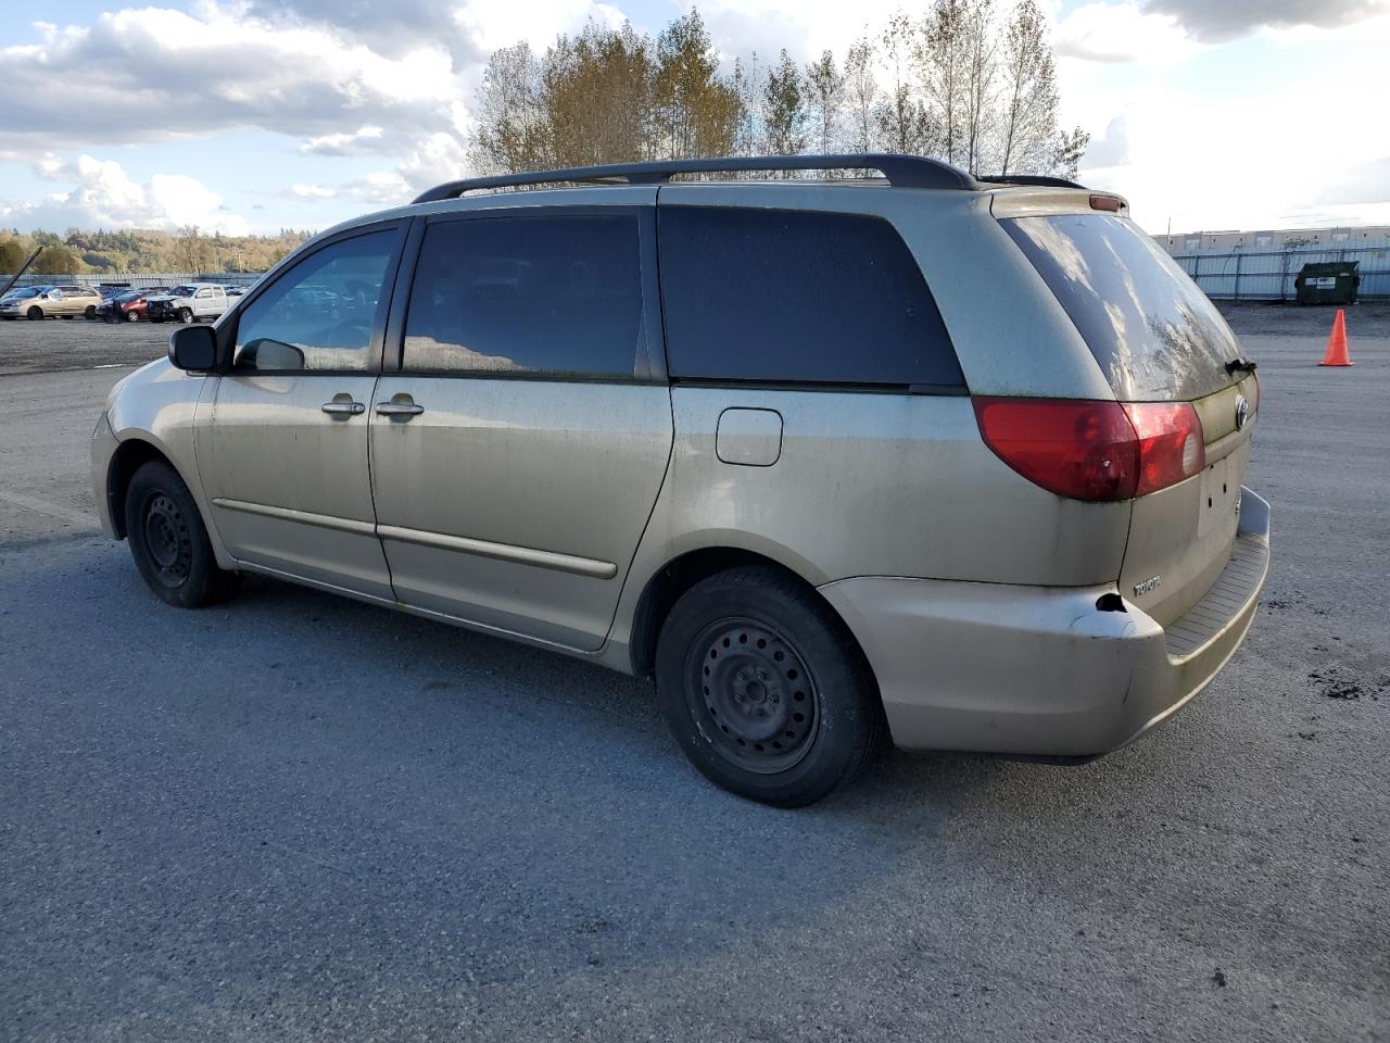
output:
[[[377,531],[402,602],[603,644],[671,451],[644,292],[653,196],[427,227],[400,370],[371,414]]]

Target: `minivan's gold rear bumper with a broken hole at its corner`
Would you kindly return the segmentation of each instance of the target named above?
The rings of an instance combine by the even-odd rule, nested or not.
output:
[[[1201,693],[1240,647],[1269,572],[1269,505],[1241,490],[1230,562],[1165,630],[1111,587],[860,577],[821,594],[873,666],[894,743],[1093,757]],[[1113,598],[1111,598],[1113,601]]]

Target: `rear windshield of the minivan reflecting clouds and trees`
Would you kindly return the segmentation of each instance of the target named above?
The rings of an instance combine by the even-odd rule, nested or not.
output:
[[[1127,402],[1227,387],[1240,355],[1216,306],[1131,221],[1106,214],[1001,221]]]

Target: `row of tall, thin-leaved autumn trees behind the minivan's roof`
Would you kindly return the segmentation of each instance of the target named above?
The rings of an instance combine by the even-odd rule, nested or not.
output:
[[[972,174],[1074,177],[1090,135],[1058,124],[1036,0],[931,0],[842,54],[721,67],[698,10],[655,39],[591,21],[543,54],[492,54],[468,159],[484,174],[696,156],[895,152]]]

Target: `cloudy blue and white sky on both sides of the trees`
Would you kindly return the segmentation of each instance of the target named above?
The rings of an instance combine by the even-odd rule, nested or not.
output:
[[[1002,7],[1009,0],[997,0]],[[0,225],[322,228],[466,172],[486,54],[666,0],[70,0],[7,13]],[[709,0],[727,57],[844,53],[887,0]],[[919,13],[926,4],[909,6]],[[1390,223],[1380,0],[1048,4],[1088,184],[1151,232]],[[1348,104],[1344,96],[1350,95]]]

